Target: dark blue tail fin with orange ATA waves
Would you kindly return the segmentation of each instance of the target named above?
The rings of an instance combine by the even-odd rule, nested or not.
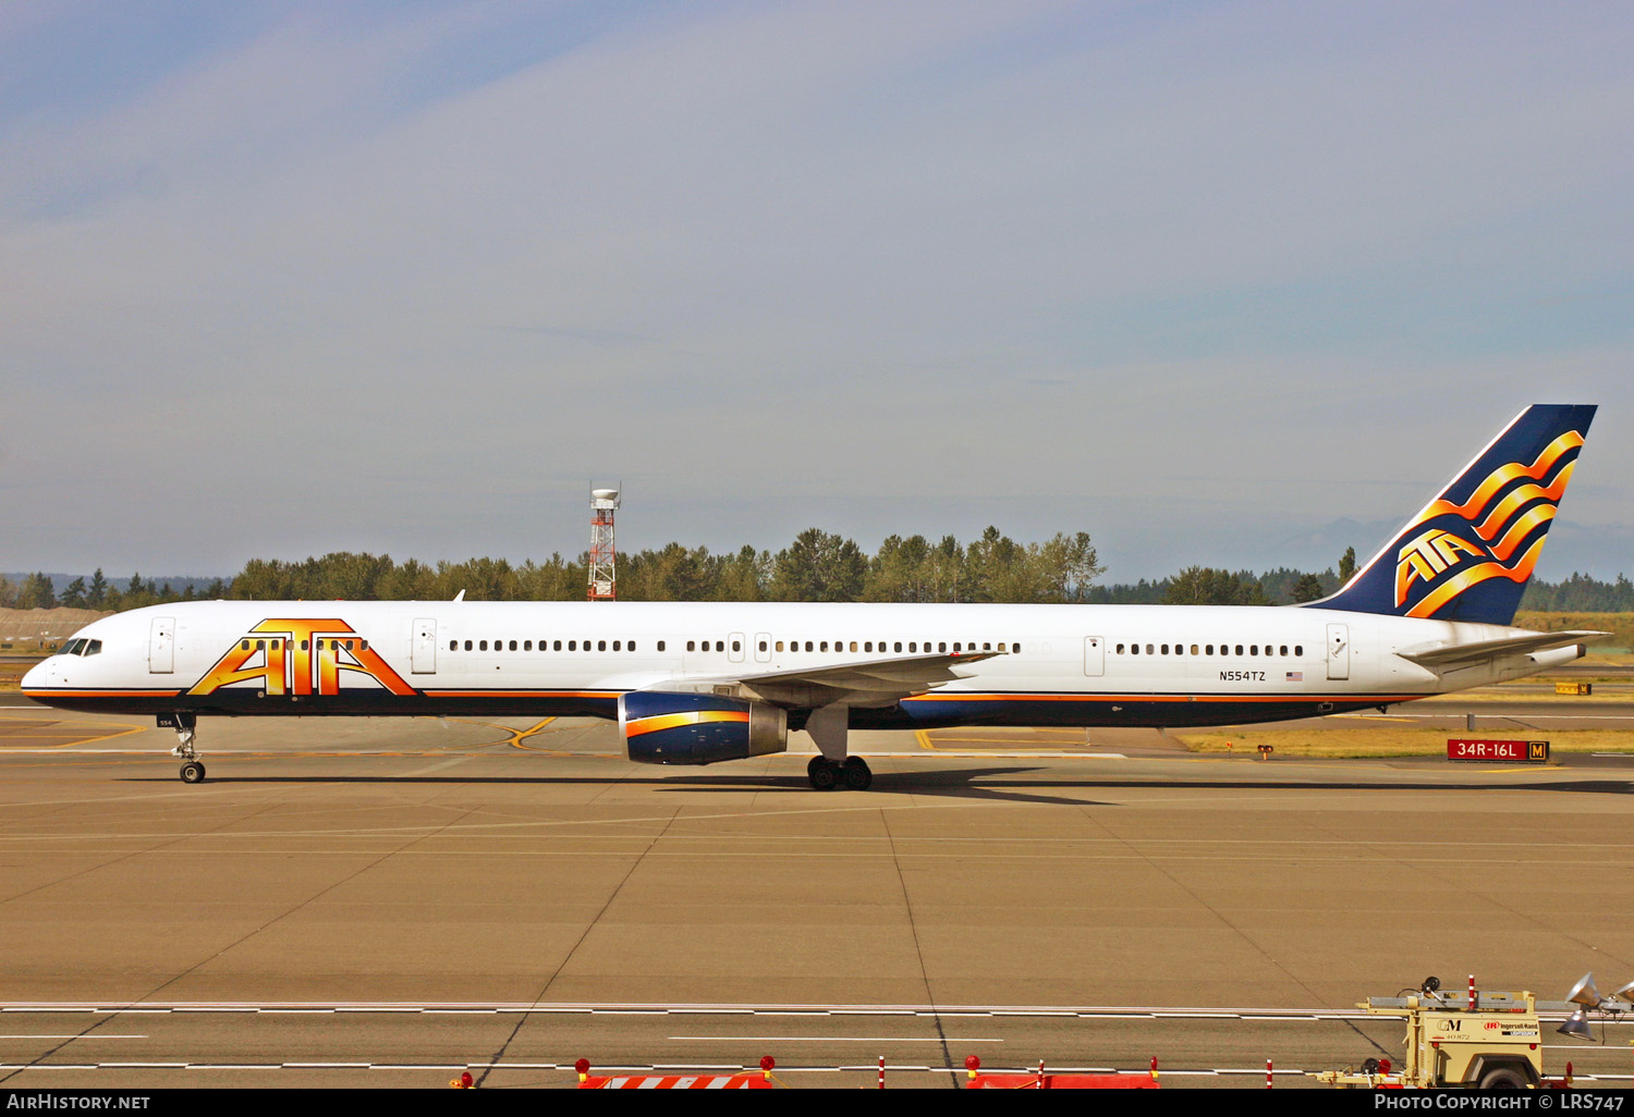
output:
[[[1534,403],[1332,598],[1312,609],[1510,624],[1542,554],[1590,403]]]

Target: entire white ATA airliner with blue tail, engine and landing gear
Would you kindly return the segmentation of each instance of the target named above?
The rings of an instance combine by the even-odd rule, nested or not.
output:
[[[23,679],[152,714],[199,782],[201,715],[588,715],[629,758],[712,764],[850,728],[1273,722],[1513,679],[1601,632],[1510,622],[1595,408],[1521,412],[1338,593],[1306,606],[190,601],[82,629]]]

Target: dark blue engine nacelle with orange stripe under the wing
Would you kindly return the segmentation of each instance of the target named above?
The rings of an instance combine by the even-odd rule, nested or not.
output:
[[[639,764],[714,764],[789,746],[789,715],[781,707],[712,694],[621,694],[618,727]]]

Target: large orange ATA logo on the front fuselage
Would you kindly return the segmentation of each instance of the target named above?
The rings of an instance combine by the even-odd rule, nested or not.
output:
[[[253,679],[268,696],[332,696],[340,694],[345,674],[364,674],[392,694],[415,692],[345,621],[289,617],[250,629],[188,694],[214,694]]]

